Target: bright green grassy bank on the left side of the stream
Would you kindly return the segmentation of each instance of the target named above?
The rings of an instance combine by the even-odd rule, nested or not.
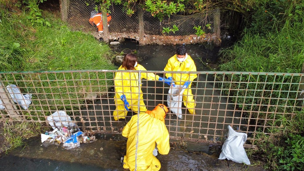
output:
[[[109,46],[98,43],[93,36],[70,31],[60,19],[40,11],[37,6],[9,12],[2,5],[0,72],[116,69],[110,62],[113,54]],[[31,10],[35,11],[34,18]],[[64,80],[63,75],[57,76]],[[74,79],[79,79],[76,77]],[[63,93],[63,96],[69,95]],[[12,122],[8,118],[0,117],[0,122],[0,153],[22,145],[22,139],[37,135],[40,129],[39,124]]]

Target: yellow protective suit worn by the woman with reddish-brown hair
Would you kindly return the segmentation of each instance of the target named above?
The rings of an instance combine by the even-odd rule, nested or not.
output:
[[[126,70],[120,66],[118,70]],[[135,70],[147,71],[142,65],[137,64]],[[141,73],[140,79],[158,80],[159,76],[153,73]],[[123,101],[120,99],[121,95],[126,95],[131,108],[135,113],[138,111],[138,73],[136,72],[116,72],[115,79],[115,105],[116,110],[113,112],[115,120],[124,119],[128,111],[126,111]],[[140,112],[146,112],[147,108],[143,102],[143,92],[140,89]]]

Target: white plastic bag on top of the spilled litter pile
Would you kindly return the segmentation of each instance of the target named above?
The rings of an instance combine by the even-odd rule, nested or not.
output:
[[[50,116],[47,117],[47,120],[49,121],[49,124],[53,129],[60,129],[61,127],[73,127],[76,126],[75,123],[72,122],[71,117],[65,113],[63,110],[59,110],[58,112],[54,112]]]

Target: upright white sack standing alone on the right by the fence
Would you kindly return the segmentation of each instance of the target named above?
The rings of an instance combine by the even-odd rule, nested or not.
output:
[[[236,132],[228,125],[228,138],[225,140],[219,159],[228,159],[237,163],[250,165],[250,161],[244,149],[244,143],[247,140],[247,134]]]

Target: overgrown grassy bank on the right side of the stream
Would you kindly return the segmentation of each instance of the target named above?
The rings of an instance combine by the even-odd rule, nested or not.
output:
[[[281,72],[300,73],[304,63],[304,2],[303,1],[261,1],[247,18],[248,26],[243,32],[243,38],[229,49],[221,51],[221,71],[239,72]],[[239,78],[226,78],[227,81],[239,81]],[[234,80],[236,79],[236,80]],[[265,77],[252,76],[255,82],[265,80]],[[291,88],[283,86],[284,90],[298,91],[298,80],[286,76],[280,78],[268,76],[277,82],[293,82]],[[245,79],[246,80],[246,79]],[[248,87],[247,89],[251,89]],[[266,86],[255,89],[268,89]],[[279,89],[278,89],[279,90]],[[282,98],[284,93],[272,92],[264,97]],[[230,92],[231,96],[246,96],[245,91]],[[233,94],[234,93],[234,94]],[[247,94],[250,96],[250,94]],[[281,97],[280,97],[281,96]],[[284,97],[283,97],[284,98]],[[234,98],[236,103],[242,103],[242,98]],[[291,101],[278,101],[284,105]],[[249,104],[257,104],[251,101]],[[295,103],[293,101],[293,103]],[[298,102],[302,105],[302,102]],[[262,105],[268,106],[268,101]],[[271,104],[270,104],[271,105]],[[266,111],[266,108],[255,109]],[[272,109],[269,108],[269,111]],[[247,150],[252,156],[267,162],[266,168],[273,170],[304,170],[304,111],[297,111],[293,116],[275,114],[276,121],[266,123],[275,128],[259,134],[256,145],[259,150]],[[271,117],[262,116],[259,117]],[[266,118],[267,119],[267,118]]]

